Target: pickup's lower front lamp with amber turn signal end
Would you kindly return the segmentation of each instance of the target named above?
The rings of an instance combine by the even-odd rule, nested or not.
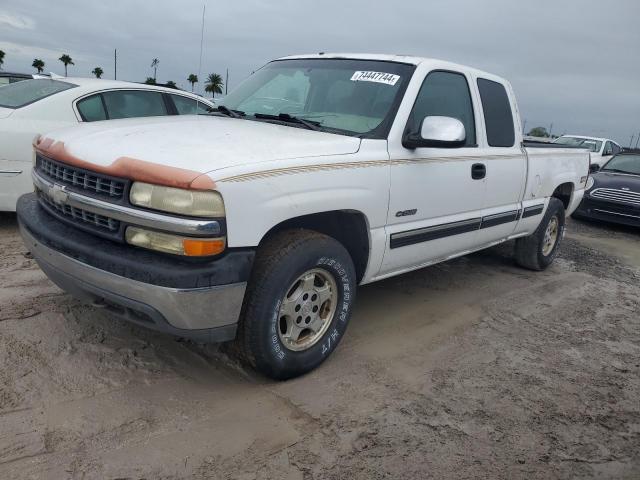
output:
[[[127,243],[158,252],[185,255],[188,257],[208,257],[222,253],[225,238],[192,238],[154,232],[138,227],[128,227],[125,233]]]

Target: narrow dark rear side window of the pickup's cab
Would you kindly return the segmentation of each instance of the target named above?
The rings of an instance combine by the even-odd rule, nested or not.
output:
[[[498,82],[478,79],[478,90],[487,127],[487,142],[491,147],[513,147],[516,141],[509,96]]]

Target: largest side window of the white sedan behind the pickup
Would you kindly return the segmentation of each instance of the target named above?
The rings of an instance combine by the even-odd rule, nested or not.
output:
[[[110,120],[167,115],[167,106],[160,92],[116,90],[104,92],[102,97]]]

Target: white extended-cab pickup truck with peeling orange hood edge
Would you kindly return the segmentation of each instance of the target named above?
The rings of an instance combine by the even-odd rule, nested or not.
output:
[[[589,153],[527,148],[521,131],[495,75],[287,57],[211,115],[42,136],[18,219],[63,289],[139,325],[233,340],[290,378],[336,348],[357,285],[511,239],[518,264],[553,261]]]

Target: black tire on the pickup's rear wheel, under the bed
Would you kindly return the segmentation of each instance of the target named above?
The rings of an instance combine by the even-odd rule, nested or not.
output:
[[[555,240],[555,245],[550,252],[544,253],[544,238],[547,231],[547,227],[556,219],[558,222],[558,234]],[[557,198],[549,199],[549,206],[547,211],[533,234],[528,237],[519,238],[516,240],[515,247],[515,259],[516,263],[521,267],[528,268],[530,270],[541,271],[546,269],[553,263],[553,260],[558,253],[558,247],[564,236],[565,225],[565,211],[563,203]]]

